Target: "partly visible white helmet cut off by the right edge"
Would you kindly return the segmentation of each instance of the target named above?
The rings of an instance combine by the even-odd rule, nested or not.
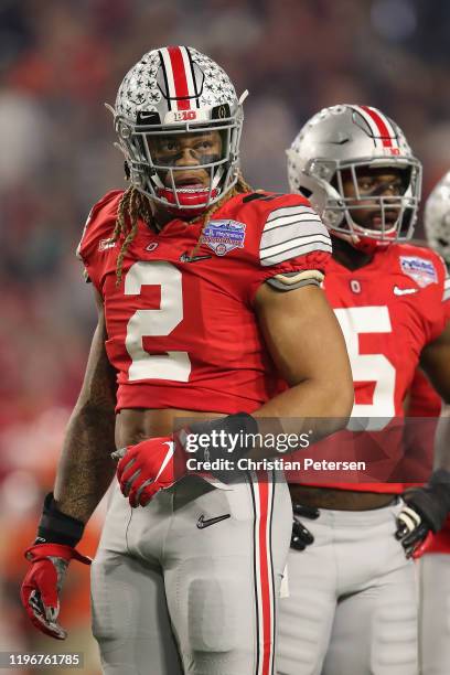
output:
[[[435,186],[425,204],[424,225],[429,245],[450,268],[450,171]]]

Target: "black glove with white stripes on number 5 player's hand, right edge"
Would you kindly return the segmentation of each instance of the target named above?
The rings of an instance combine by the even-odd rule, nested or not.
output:
[[[409,488],[401,496],[406,506],[398,514],[395,536],[410,558],[428,534],[439,532],[446,521],[450,511],[450,472],[438,469],[424,488]]]

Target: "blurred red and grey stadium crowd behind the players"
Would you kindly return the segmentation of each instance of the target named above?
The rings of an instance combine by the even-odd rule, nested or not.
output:
[[[447,0],[0,0],[0,651],[79,650],[99,673],[82,566],[64,597],[67,643],[35,633],[18,594],[95,322],[74,250],[93,202],[124,185],[103,103],[143,52],[189,44],[250,92],[243,169],[255,186],[286,190],[299,127],[357,103],[404,128],[427,196],[450,165],[449,35]],[[101,510],[83,550],[100,523]]]

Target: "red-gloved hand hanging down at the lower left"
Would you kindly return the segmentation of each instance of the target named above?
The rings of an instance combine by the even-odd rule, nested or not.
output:
[[[23,580],[20,597],[25,611],[42,633],[65,640],[66,631],[57,623],[60,592],[72,559],[90,565],[92,560],[72,546],[36,544],[25,551],[31,567]]]

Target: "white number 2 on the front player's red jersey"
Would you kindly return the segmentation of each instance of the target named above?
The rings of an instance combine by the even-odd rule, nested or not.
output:
[[[137,310],[128,322],[125,340],[131,357],[128,379],[188,382],[191,374],[188,352],[149,354],[142,346],[144,336],[169,335],[183,320],[181,271],[159,260],[135,262],[125,278],[125,294],[139,296],[142,286],[159,286],[161,304],[159,309]]]

